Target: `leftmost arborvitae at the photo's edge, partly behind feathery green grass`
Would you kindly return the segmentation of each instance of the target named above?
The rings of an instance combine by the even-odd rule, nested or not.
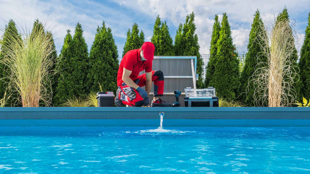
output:
[[[10,56],[10,55],[4,55],[4,52],[9,51],[3,51],[3,50],[11,50],[11,44],[13,40],[21,40],[20,34],[17,31],[15,22],[13,20],[10,20],[9,23],[5,26],[4,34],[1,41],[1,52],[0,52],[0,61],[3,60],[4,56]],[[3,77],[6,77],[10,74],[10,67],[5,66],[4,64],[0,63],[0,79]],[[6,107],[10,106],[21,106],[20,103],[18,103],[18,95],[16,92],[12,91],[15,89],[8,89],[7,83],[9,82],[9,79],[2,79],[0,80],[0,99],[3,98],[4,92],[7,91],[7,96],[11,95],[11,98],[7,100]]]

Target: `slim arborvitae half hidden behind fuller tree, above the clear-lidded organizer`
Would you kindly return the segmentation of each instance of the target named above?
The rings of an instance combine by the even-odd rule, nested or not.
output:
[[[212,28],[212,36],[211,36],[211,43],[210,43],[210,57],[208,61],[208,65],[206,67],[206,80],[205,85],[209,87],[210,78],[213,76],[214,73],[214,63],[216,59],[217,47],[216,43],[219,40],[219,31],[221,30],[221,25],[219,22],[219,16],[215,15],[214,18],[215,22]]]

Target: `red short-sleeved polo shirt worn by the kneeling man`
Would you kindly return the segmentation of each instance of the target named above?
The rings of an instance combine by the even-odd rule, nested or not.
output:
[[[145,72],[152,71],[152,60],[142,61],[140,59],[140,49],[128,51],[124,55],[118,68],[117,86],[122,85],[122,83],[124,82],[122,80],[124,68],[132,71],[129,77],[131,78],[131,80],[135,81],[139,76],[139,72],[143,71],[144,69],[145,69]]]

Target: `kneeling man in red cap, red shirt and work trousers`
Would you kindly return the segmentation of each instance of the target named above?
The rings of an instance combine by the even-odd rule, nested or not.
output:
[[[152,71],[155,46],[152,42],[144,42],[141,48],[128,51],[118,69],[117,93],[115,104],[118,107],[130,105],[134,107],[148,106],[148,96],[154,82],[154,98],[151,107],[170,107],[170,103],[160,98],[164,92],[164,75],[162,71]],[[145,74],[139,72],[145,70]],[[145,86],[145,90],[141,87]]]

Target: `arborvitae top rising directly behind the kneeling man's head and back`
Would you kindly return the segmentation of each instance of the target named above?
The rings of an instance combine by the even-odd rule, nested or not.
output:
[[[144,38],[143,31],[141,30],[139,34],[138,24],[134,23],[132,25],[131,32],[130,32],[130,29],[128,28],[127,38],[126,38],[122,57],[124,57],[124,55],[128,51],[140,48],[142,44],[144,43],[144,39],[145,38]]]

